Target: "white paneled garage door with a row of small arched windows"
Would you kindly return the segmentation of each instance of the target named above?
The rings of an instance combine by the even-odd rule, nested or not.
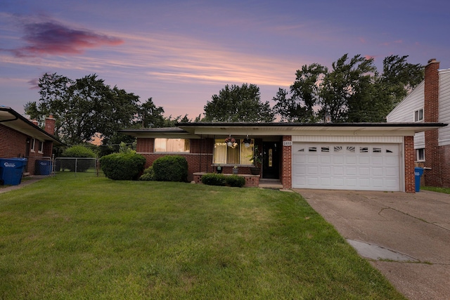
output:
[[[293,188],[400,190],[399,144],[293,144]]]

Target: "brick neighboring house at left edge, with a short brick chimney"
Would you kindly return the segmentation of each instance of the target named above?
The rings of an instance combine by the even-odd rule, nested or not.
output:
[[[50,161],[53,145],[63,145],[53,136],[54,131],[55,119],[52,117],[46,118],[43,130],[37,122],[26,119],[10,107],[0,106],[0,157],[25,157],[25,173],[39,174],[39,169],[35,169],[36,161]]]

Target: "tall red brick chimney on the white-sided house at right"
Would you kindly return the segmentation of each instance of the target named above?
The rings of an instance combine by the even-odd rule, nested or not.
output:
[[[423,100],[423,120],[439,122],[439,62],[432,58],[425,66],[425,98]],[[425,174],[425,185],[442,186],[441,159],[439,155],[439,132],[437,129],[425,131],[425,167],[431,168]]]

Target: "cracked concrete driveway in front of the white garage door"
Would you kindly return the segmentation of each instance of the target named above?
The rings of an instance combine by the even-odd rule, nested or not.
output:
[[[408,299],[450,299],[450,195],[295,191]]]

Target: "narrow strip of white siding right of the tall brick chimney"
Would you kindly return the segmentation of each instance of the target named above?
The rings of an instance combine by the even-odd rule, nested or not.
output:
[[[450,124],[450,69],[439,70],[439,122]],[[450,127],[439,129],[439,145],[450,145]]]

